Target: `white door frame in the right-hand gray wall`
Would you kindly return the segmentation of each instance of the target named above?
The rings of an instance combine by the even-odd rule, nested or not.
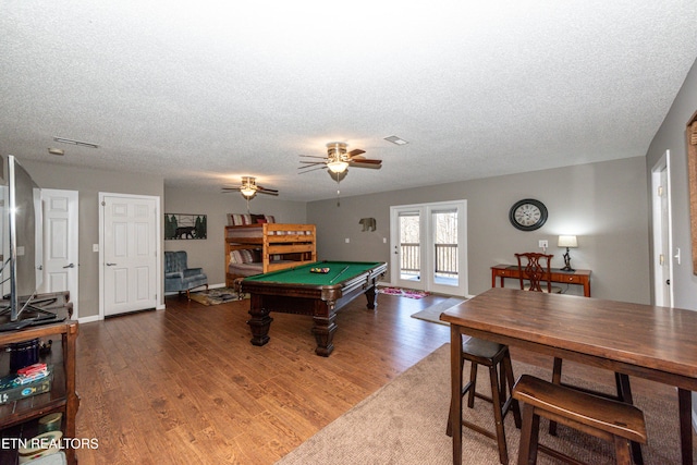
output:
[[[673,258],[680,265],[680,252],[673,257],[671,206],[671,152],[663,156],[651,169],[651,208],[653,243],[653,303],[673,306]],[[668,211],[664,211],[664,208]],[[670,283],[665,285],[665,283]]]

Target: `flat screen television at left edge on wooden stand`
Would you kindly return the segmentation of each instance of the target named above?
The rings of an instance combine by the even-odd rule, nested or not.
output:
[[[47,311],[32,305],[44,276],[41,189],[12,155],[8,156],[4,207],[7,229],[3,232],[8,241],[3,243],[8,249],[2,280],[9,280],[10,293],[4,296],[4,308],[0,314],[9,314],[11,322],[36,318],[45,320]],[[37,314],[42,317],[37,317]]]

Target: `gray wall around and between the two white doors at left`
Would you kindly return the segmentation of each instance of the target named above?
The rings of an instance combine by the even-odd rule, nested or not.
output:
[[[45,188],[77,191],[80,198],[80,318],[99,315],[99,193],[163,195],[161,178],[138,173],[114,173],[51,163],[37,163],[17,157],[36,183]]]

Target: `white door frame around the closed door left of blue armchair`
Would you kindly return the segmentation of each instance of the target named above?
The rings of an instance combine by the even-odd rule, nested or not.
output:
[[[105,198],[106,197],[125,197],[132,199],[155,200],[155,221],[156,221],[156,292],[157,292],[157,309],[164,308],[162,304],[162,241],[160,241],[162,231],[162,218],[160,213],[160,197],[155,195],[133,195],[121,193],[99,193],[99,319],[105,319]]]

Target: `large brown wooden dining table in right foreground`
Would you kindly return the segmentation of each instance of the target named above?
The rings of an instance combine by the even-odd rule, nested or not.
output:
[[[697,311],[493,287],[440,319],[450,323],[451,418],[462,418],[462,338],[470,335],[676,387],[682,463],[693,463]],[[452,427],[460,465],[462,423]]]

